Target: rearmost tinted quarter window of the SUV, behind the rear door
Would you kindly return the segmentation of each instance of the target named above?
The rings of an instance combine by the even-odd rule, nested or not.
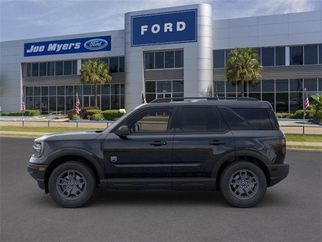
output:
[[[266,108],[221,108],[226,122],[232,130],[272,130]]]

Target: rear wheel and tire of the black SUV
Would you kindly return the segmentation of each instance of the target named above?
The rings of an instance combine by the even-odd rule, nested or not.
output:
[[[263,199],[267,180],[263,170],[256,164],[236,161],[222,171],[219,187],[228,203],[235,207],[248,208]]]

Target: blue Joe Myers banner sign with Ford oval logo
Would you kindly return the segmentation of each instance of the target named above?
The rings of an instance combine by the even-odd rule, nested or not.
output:
[[[24,56],[111,50],[111,36],[25,43]]]

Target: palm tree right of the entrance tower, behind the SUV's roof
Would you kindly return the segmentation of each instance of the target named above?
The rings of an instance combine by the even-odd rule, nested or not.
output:
[[[226,78],[232,84],[240,80],[241,96],[244,97],[245,81],[256,85],[261,79],[262,65],[258,52],[253,48],[234,48],[229,52],[226,63]]]

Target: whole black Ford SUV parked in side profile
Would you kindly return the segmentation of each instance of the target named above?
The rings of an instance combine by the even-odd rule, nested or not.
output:
[[[269,102],[255,98],[162,98],[104,131],[43,136],[28,171],[63,207],[108,189],[218,189],[250,207],[285,178],[285,136]]]

